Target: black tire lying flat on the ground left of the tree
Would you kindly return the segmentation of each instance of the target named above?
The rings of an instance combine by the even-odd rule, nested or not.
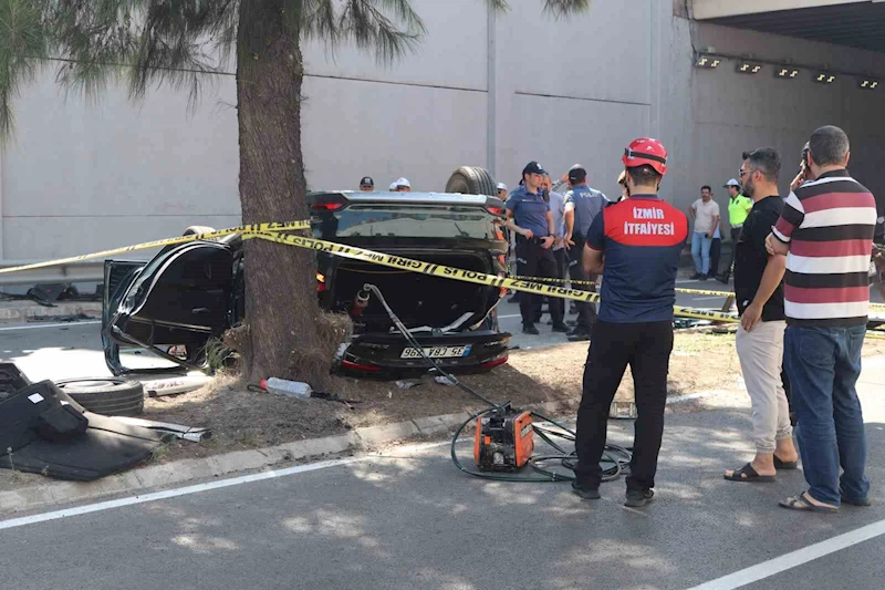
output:
[[[115,377],[56,381],[76,403],[105,416],[136,416],[145,408],[145,389],[138,381]]]

